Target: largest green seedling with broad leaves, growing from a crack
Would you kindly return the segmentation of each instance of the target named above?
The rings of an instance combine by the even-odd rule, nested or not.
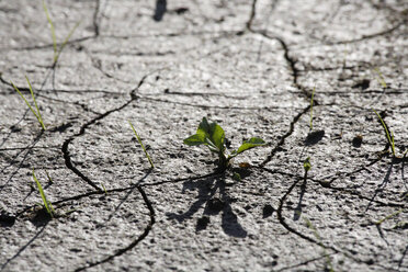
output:
[[[199,125],[196,133],[184,139],[184,144],[189,146],[205,145],[209,151],[218,156],[219,170],[224,171],[229,167],[230,160],[239,154],[265,145],[265,141],[261,138],[250,138],[243,140],[242,145],[237,149],[226,155],[225,146],[225,133],[224,129],[216,123],[208,124],[207,120],[203,117]]]

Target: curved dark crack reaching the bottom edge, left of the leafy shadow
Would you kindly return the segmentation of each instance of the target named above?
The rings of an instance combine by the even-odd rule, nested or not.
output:
[[[111,254],[111,256],[104,258],[103,260],[100,260],[100,261],[97,261],[97,262],[90,262],[86,267],[76,269],[75,272],[84,271],[87,269],[90,269],[90,268],[103,264],[105,262],[109,262],[109,261],[113,260],[114,258],[120,257],[120,256],[126,253],[127,251],[132,250],[134,247],[136,247],[140,241],[143,241],[149,235],[150,230],[152,229],[152,227],[156,223],[155,209],[151,205],[151,202],[147,197],[146,192],[143,190],[143,188],[141,186],[136,186],[136,188],[139,191],[139,193],[141,194],[143,200],[145,202],[145,205],[149,209],[150,222],[146,226],[144,233],[139,237],[137,237],[137,239],[135,239],[133,242],[131,242],[128,246],[126,246],[125,248],[116,250],[116,252],[114,254]]]

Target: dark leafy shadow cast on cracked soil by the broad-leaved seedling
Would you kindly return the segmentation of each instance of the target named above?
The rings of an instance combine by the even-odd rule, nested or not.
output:
[[[184,213],[167,213],[168,218],[181,223],[191,219],[193,215],[204,206],[203,217],[197,220],[196,231],[207,227],[211,216],[222,213],[222,228],[226,235],[237,238],[247,237],[247,230],[238,223],[238,216],[230,206],[233,200],[229,197],[226,190],[225,174],[184,182],[182,193],[192,190],[199,190],[197,201]],[[217,193],[219,196],[216,196]]]

